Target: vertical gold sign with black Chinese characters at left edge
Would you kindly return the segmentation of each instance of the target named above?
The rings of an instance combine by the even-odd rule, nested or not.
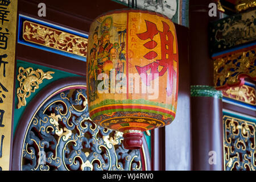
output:
[[[0,1],[0,170],[9,170],[17,0]]]

